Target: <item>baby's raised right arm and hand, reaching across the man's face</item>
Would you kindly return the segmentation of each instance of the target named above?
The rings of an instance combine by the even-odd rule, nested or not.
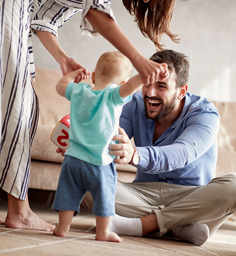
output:
[[[166,63],[161,63],[162,67],[165,70],[164,76],[160,77],[160,80],[166,79],[169,77],[170,73],[168,70],[168,65]],[[122,98],[125,98],[127,96],[130,96],[134,94],[136,91],[140,89],[144,84],[144,81],[142,77],[138,74],[136,76],[133,76],[131,79],[129,79],[128,82],[125,84],[122,84],[119,88],[119,95]]]

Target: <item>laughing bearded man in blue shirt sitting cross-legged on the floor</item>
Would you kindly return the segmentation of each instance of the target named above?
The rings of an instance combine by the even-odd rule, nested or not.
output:
[[[128,236],[171,231],[202,245],[236,212],[236,174],[213,179],[219,114],[207,99],[187,93],[187,57],[166,50],[151,59],[167,63],[170,76],[143,86],[123,108],[123,129],[114,137],[121,143],[110,145],[110,154],[137,172],[134,183],[118,182],[110,230]],[[89,195],[83,204],[91,209]]]

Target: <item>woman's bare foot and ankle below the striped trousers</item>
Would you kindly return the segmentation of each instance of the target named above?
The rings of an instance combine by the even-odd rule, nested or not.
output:
[[[26,200],[20,200],[8,194],[8,213],[5,220],[5,226],[25,230],[52,231],[55,225],[48,224],[37,214],[32,212]]]

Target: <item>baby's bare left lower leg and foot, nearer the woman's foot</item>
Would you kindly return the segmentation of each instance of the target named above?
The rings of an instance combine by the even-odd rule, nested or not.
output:
[[[66,236],[74,216],[74,211],[59,211],[59,226],[53,230],[56,236]]]

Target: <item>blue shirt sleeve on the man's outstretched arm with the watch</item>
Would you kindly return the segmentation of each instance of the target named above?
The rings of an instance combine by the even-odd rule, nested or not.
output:
[[[188,118],[185,130],[171,145],[136,147],[142,156],[137,168],[150,174],[183,168],[209,150],[218,130],[218,113],[203,111],[195,114]]]

